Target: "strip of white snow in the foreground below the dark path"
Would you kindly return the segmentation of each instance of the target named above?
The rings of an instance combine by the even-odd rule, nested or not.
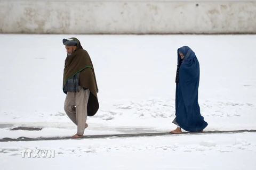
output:
[[[50,149],[55,151],[55,157],[22,158],[23,149]],[[1,150],[1,169],[255,170],[256,167],[253,133],[2,142]]]

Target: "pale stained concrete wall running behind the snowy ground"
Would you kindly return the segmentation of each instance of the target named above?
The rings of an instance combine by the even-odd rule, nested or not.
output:
[[[256,1],[0,0],[0,33],[256,33]]]

